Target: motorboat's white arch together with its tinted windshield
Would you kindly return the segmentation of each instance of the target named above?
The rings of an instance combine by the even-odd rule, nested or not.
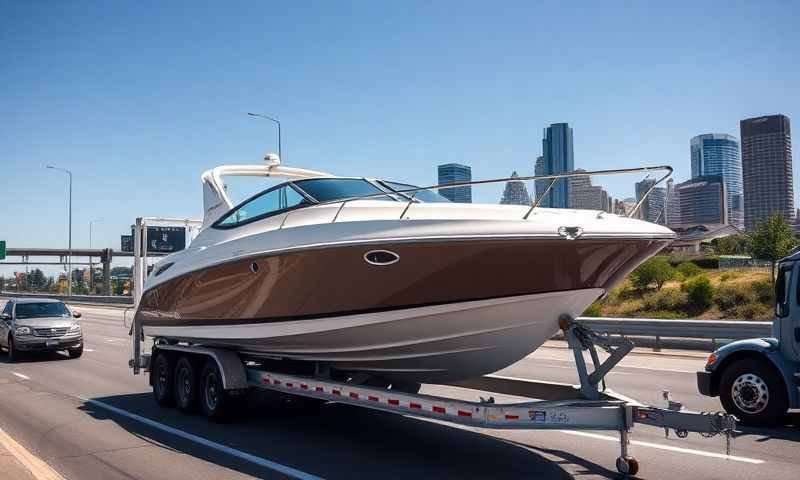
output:
[[[336,177],[329,173],[285,167],[274,154],[263,165],[223,165],[203,173],[203,227],[232,228],[270,215],[320,203],[370,197],[403,202],[449,202],[432,190],[387,180]],[[268,188],[234,208],[223,176],[277,177],[289,182]],[[413,193],[403,193],[412,190]]]

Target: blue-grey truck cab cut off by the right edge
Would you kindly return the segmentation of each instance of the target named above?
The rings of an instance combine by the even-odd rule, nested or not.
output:
[[[778,262],[772,337],[729,343],[697,372],[700,393],[719,396],[742,423],[778,423],[800,408],[800,251]]]

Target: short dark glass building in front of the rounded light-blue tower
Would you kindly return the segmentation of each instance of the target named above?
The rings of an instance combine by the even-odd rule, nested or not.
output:
[[[700,224],[727,224],[727,185],[722,175],[704,175],[679,183],[675,189],[681,199],[682,227]]]

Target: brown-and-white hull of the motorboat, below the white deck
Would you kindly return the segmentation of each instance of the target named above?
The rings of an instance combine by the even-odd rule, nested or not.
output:
[[[237,258],[156,284],[145,335],[408,381],[500,370],[539,348],[659,239],[393,241]],[[399,259],[374,265],[367,252]]]

